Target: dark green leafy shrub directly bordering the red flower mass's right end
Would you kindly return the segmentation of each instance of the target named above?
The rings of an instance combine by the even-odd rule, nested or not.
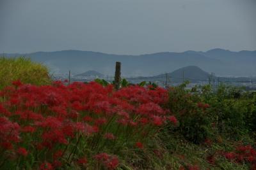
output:
[[[207,104],[202,103],[202,97],[186,90],[186,84],[170,88],[168,108],[178,118],[178,131],[184,138],[202,143],[211,135],[211,115],[207,112]]]

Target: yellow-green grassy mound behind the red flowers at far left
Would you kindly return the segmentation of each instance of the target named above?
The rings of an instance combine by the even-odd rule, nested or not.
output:
[[[33,85],[44,85],[51,82],[47,67],[24,57],[0,57],[0,67],[0,89],[15,80]]]

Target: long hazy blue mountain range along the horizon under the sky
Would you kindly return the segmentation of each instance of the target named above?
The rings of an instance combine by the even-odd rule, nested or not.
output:
[[[25,55],[47,65],[52,73],[83,73],[97,70],[113,76],[115,62],[122,62],[122,76],[154,76],[170,73],[186,66],[197,66],[217,76],[256,76],[256,51],[231,52],[216,48],[207,52],[160,52],[145,55],[115,55],[100,52],[64,50],[58,52],[35,52],[4,54],[8,57]]]

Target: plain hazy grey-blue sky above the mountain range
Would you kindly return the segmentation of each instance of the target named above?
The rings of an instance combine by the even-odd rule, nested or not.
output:
[[[256,0],[0,0],[0,53],[256,50]]]

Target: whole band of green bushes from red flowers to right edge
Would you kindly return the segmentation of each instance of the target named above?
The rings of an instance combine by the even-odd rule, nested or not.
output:
[[[218,135],[239,140],[255,132],[255,95],[225,85],[185,87],[186,83],[170,88],[168,108],[179,119],[177,130],[188,141],[202,143]]]

